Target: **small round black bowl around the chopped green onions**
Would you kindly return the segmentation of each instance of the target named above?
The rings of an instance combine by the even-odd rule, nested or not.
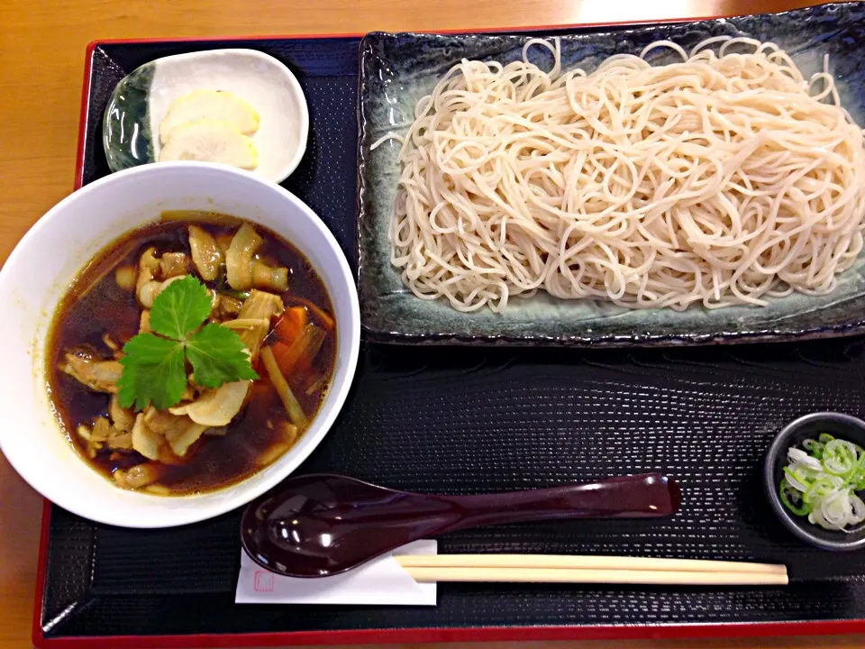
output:
[[[865,548],[865,526],[858,527],[855,532],[825,530],[821,526],[810,523],[807,516],[797,516],[781,502],[778,486],[781,478],[784,477],[784,467],[789,463],[788,449],[790,446],[801,448],[799,444],[808,437],[816,438],[821,433],[858,443],[865,448],[865,422],[861,419],[834,412],[799,417],[778,433],[766,453],[766,461],[763,463],[763,482],[769,504],[781,523],[808,544],[834,552],[849,552]]]

